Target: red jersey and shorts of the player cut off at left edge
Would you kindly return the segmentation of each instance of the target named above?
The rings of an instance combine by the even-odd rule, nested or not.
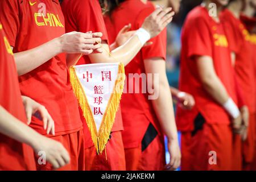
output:
[[[27,123],[13,51],[1,23],[0,52],[0,105],[15,118]],[[0,134],[0,156],[0,170],[35,170],[32,148],[2,134]]]

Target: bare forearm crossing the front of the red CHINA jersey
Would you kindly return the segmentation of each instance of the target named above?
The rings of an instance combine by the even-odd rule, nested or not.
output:
[[[31,72],[59,53],[61,53],[59,38],[53,39],[42,46],[15,53],[14,57],[18,75],[20,76]]]

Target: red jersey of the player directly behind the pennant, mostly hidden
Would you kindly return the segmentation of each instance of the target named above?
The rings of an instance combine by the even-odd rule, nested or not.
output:
[[[65,16],[65,28],[66,32],[79,31],[79,32],[102,32],[102,40],[105,40],[107,43],[108,33],[106,31],[104,19],[102,16],[100,3],[96,0],[64,0],[61,3],[61,7]],[[77,65],[81,64],[91,64],[89,56],[82,56],[81,59],[77,62]],[[82,112],[80,112],[81,118]],[[85,123],[85,121],[84,121]],[[87,127],[87,125],[84,125]],[[112,131],[121,131],[123,130],[122,125],[122,115],[121,110],[117,111],[115,115],[115,121],[112,128]],[[93,146],[92,140],[90,139],[90,134],[88,128],[84,130],[86,140],[86,148]]]

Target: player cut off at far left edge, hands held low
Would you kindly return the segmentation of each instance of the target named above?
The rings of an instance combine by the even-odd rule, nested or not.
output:
[[[0,170],[35,170],[32,148],[36,154],[46,152],[46,159],[54,168],[69,163],[68,152],[59,142],[43,137],[26,125],[13,51],[1,23],[0,52]],[[51,118],[42,105],[23,99],[27,100],[27,110],[39,110],[44,119]]]

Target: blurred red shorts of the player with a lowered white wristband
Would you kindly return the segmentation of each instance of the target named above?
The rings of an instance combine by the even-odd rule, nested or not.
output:
[[[204,123],[203,129],[181,135],[181,169],[232,170],[233,134],[229,125]],[[241,149],[240,149],[241,151]]]

